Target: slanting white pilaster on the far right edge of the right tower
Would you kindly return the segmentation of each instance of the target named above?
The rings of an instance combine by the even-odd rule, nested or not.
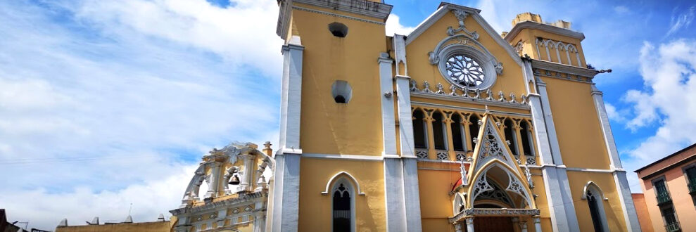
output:
[[[600,124],[602,124],[602,134],[605,138],[604,140],[607,146],[607,153],[609,153],[609,162],[611,163],[609,169],[614,169],[614,183],[616,183],[616,193],[619,194],[619,201],[621,202],[621,205],[623,205],[621,210],[624,211],[624,219],[626,220],[627,227],[626,230],[640,231],[638,214],[635,212],[635,205],[633,205],[631,189],[628,187],[628,180],[626,179],[626,171],[622,169],[623,166],[621,165],[621,159],[619,158],[619,151],[616,149],[614,134],[612,133],[611,125],[609,125],[607,109],[605,108],[605,103],[602,99],[602,91],[599,91],[597,86],[594,84],[592,85],[592,98],[595,102],[597,117],[600,119]]]

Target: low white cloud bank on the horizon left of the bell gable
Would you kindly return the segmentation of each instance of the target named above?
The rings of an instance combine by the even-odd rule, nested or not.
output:
[[[169,210],[179,207],[184,189],[196,165],[172,167],[176,172],[160,178],[135,183],[118,191],[97,191],[76,186],[69,193],[50,193],[44,188],[32,190],[4,189],[3,207],[8,221],[29,220],[30,227],[53,230],[61,219],[68,225],[84,225],[99,217],[100,222],[121,222],[132,204],[134,221],[155,221],[159,214],[168,219]],[[30,217],[27,217],[30,216]]]

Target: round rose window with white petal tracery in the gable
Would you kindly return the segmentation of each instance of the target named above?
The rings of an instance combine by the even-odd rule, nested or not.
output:
[[[479,62],[463,53],[455,53],[448,57],[445,70],[450,80],[461,86],[479,86],[486,78]]]

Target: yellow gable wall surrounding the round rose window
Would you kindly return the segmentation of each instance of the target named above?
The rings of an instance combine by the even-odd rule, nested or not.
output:
[[[444,89],[449,91],[451,85],[441,74],[438,65],[431,65],[428,59],[428,53],[433,51],[435,46],[437,46],[442,39],[448,37],[445,33],[447,27],[451,26],[456,28],[458,25],[459,22],[457,18],[452,13],[447,13],[438,22],[435,22],[429,29],[420,34],[414,41],[407,44],[406,59],[408,75],[418,82],[419,89],[423,89],[423,82],[427,81],[430,83],[431,90],[435,90],[435,86],[438,83],[442,83],[443,86],[445,86]],[[486,30],[483,30],[483,27],[481,27],[473,17],[467,17],[467,19],[464,20],[464,25],[466,25],[468,30],[478,32],[480,35],[478,41],[502,63],[502,75],[498,76],[498,79],[492,87],[496,98],[498,96],[498,91],[503,91],[506,98],[510,96],[511,92],[514,92],[517,98],[519,98],[521,94],[526,94],[522,67],[514,62],[512,56],[505,51],[503,46],[500,46],[493,40],[493,37],[499,37],[499,35],[493,34],[491,36],[486,33]]]

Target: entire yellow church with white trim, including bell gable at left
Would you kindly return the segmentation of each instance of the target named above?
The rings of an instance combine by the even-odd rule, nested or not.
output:
[[[443,3],[385,36],[382,1],[278,4],[276,149],[205,155],[162,231],[640,231],[569,22]],[[56,231],[136,225],[104,226]]]

